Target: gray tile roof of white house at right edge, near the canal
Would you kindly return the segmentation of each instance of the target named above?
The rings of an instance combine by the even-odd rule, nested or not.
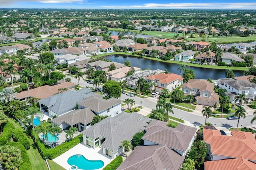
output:
[[[233,78],[220,78],[218,80],[219,84],[228,84],[229,86],[235,88],[236,90],[248,90],[248,87],[256,88],[255,83],[250,83],[246,80],[234,80]]]

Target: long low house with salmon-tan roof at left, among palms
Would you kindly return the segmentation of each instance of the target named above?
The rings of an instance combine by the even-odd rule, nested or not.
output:
[[[67,90],[70,90],[74,88],[75,85],[76,84],[71,82],[64,82],[64,83],[56,84],[54,86],[45,85],[38,88],[26,90],[24,92],[17,93],[14,96],[16,96],[16,99],[18,100],[27,100],[28,98],[31,98],[31,97],[37,98],[37,99],[44,99],[60,92],[61,88],[67,88]]]

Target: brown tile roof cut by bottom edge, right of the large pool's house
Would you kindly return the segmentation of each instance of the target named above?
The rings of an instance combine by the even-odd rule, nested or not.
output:
[[[178,170],[183,161],[166,145],[137,146],[117,170]]]

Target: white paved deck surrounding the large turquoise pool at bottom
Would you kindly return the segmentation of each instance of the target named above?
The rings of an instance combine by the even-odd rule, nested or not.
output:
[[[64,154],[53,159],[53,161],[62,166],[63,168],[65,168],[66,170],[69,170],[71,165],[68,164],[68,158],[75,154],[81,154],[88,160],[102,160],[104,162],[104,166],[97,170],[102,170],[106,165],[108,165],[112,161],[110,157],[103,154],[102,148],[98,147],[96,149],[92,149],[84,145],[83,143],[76,145],[74,148],[68,150]]]

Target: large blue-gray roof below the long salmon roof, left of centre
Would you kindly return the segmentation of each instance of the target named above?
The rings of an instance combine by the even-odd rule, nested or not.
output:
[[[84,100],[84,98],[93,95],[95,95],[95,93],[93,93],[90,89],[83,88],[77,91],[70,90],[56,94],[54,96],[39,100],[38,102],[47,106],[48,110],[59,114],[76,107],[78,102],[81,102]]]

